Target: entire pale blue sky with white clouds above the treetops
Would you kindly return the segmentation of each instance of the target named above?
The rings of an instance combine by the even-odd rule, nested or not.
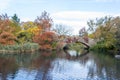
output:
[[[120,16],[120,0],[0,0],[0,14],[17,14],[21,21],[34,21],[47,11],[54,24],[63,24],[78,34],[87,21]]]

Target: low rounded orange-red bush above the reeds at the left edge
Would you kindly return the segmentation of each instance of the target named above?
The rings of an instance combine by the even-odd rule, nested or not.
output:
[[[0,43],[3,45],[14,44],[16,37],[10,32],[2,32],[0,34]]]

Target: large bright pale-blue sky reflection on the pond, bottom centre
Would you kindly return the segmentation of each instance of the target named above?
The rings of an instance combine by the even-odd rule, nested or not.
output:
[[[78,61],[56,59],[52,66],[49,71],[52,80],[83,80],[87,77],[87,67],[81,65]]]

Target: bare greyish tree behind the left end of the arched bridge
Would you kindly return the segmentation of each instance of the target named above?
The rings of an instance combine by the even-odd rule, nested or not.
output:
[[[72,34],[72,29],[62,24],[55,25],[55,28],[53,30],[59,35],[71,35]]]

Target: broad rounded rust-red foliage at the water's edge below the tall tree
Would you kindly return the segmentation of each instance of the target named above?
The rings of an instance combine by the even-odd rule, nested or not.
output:
[[[57,40],[58,37],[54,32],[44,32],[33,38],[33,41],[40,45],[40,49],[52,49],[53,42]]]

